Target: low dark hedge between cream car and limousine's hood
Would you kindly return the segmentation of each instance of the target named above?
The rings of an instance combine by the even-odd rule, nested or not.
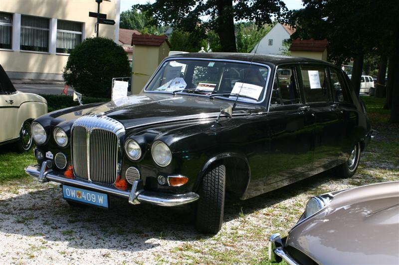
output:
[[[67,95],[48,95],[41,94],[47,100],[48,112],[78,106],[79,102],[73,101],[72,96]],[[98,97],[82,97],[83,104],[95,103],[95,102],[108,102],[109,98],[98,98]]]

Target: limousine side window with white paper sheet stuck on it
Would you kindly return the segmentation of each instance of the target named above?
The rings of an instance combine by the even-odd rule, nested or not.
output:
[[[301,75],[306,102],[331,101],[324,66],[301,66]]]

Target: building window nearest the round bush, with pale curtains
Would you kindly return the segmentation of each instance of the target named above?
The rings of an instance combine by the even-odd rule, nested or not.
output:
[[[59,53],[70,53],[82,42],[82,23],[57,20],[57,49]]]

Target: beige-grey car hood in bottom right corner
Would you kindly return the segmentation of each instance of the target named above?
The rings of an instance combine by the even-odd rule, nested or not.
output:
[[[294,227],[286,245],[319,264],[398,264],[399,182],[345,190]]]

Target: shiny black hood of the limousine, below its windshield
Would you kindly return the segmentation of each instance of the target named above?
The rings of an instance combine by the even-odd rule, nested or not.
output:
[[[194,95],[145,93],[110,101],[86,114],[106,115],[120,121],[129,129],[156,123],[216,117],[220,106],[233,103]],[[264,108],[261,106],[237,102],[233,115],[262,111]]]

